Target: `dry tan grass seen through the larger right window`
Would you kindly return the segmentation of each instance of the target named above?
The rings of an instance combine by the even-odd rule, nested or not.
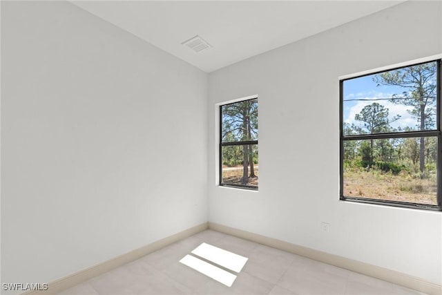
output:
[[[344,196],[437,204],[435,180],[376,171],[345,171]]]

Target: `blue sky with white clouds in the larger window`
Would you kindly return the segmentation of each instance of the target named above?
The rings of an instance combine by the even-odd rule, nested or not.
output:
[[[392,95],[402,95],[406,88],[398,86],[377,86],[376,82],[373,81],[375,75],[369,75],[365,77],[358,77],[354,79],[345,80],[343,84],[343,121],[349,124],[355,124],[356,126],[361,125],[361,122],[354,120],[354,116],[361,112],[364,106],[377,102],[382,104],[385,108],[389,109],[389,117],[395,117],[400,115],[401,119],[392,123],[391,126],[394,128],[405,128],[409,126],[415,128],[417,120],[407,112],[411,110],[411,106],[404,106],[402,104],[393,104],[388,100],[369,100],[369,99],[379,99],[379,98],[390,98]],[[358,99],[349,101],[349,99]]]

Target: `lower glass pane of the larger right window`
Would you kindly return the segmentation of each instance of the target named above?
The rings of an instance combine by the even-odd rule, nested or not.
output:
[[[345,140],[345,197],[436,205],[437,137]]]

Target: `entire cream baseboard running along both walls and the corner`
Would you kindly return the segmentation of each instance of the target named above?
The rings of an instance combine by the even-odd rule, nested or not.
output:
[[[48,284],[48,290],[46,291],[29,291],[23,293],[22,295],[57,294],[58,292],[61,292],[65,289],[68,289],[80,283],[84,283],[86,280],[89,280],[90,278],[94,278],[95,276],[99,276],[100,274],[109,272],[112,269],[115,269],[116,267],[119,267],[126,263],[130,263],[133,260],[137,260],[138,258],[146,256],[147,254],[156,251],[157,249],[161,249],[163,247],[166,247],[167,245],[171,245],[173,242],[177,242],[179,240],[192,236],[193,234],[198,234],[200,231],[204,231],[205,229],[208,228],[214,231],[220,231],[224,234],[229,234],[231,236],[237,236],[238,238],[244,238],[246,240],[258,242],[262,245],[267,245],[269,247],[298,254],[300,256],[305,256],[307,258],[318,260],[323,263],[328,263],[330,265],[335,265],[337,267],[349,269],[353,272],[358,272],[360,274],[365,274],[367,276],[372,276],[374,278],[386,280],[387,282],[391,282],[397,285],[402,285],[404,287],[415,289],[419,292],[423,292],[426,294],[432,294],[432,295],[442,294],[442,285],[428,282],[426,280],[423,280],[422,278],[416,278],[414,276],[403,274],[401,272],[396,272],[391,269],[385,269],[383,267],[378,267],[376,265],[369,265],[367,263],[362,263],[361,261],[358,260],[352,260],[349,258],[328,254],[323,251],[302,247],[300,245],[291,244],[289,242],[277,240],[275,238],[269,238],[266,236],[261,236],[259,234],[253,234],[249,231],[242,231],[240,229],[234,229],[233,227],[219,225],[218,223],[215,222],[204,222],[201,225],[197,225],[196,227],[191,227],[190,229],[186,229],[185,231],[181,231],[180,233],[174,234],[173,236],[163,238],[162,240],[157,240],[156,242],[153,242],[139,249],[135,249],[126,254],[117,256],[111,260],[105,261],[104,263],[100,263],[99,265],[94,265],[93,267],[89,267],[75,274],[71,274],[70,276],[66,276],[64,278],[60,278],[59,280],[55,280],[52,283]]]

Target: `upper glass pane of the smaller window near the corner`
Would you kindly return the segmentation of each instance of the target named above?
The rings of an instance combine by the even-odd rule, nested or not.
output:
[[[258,140],[258,99],[221,106],[221,142]]]

